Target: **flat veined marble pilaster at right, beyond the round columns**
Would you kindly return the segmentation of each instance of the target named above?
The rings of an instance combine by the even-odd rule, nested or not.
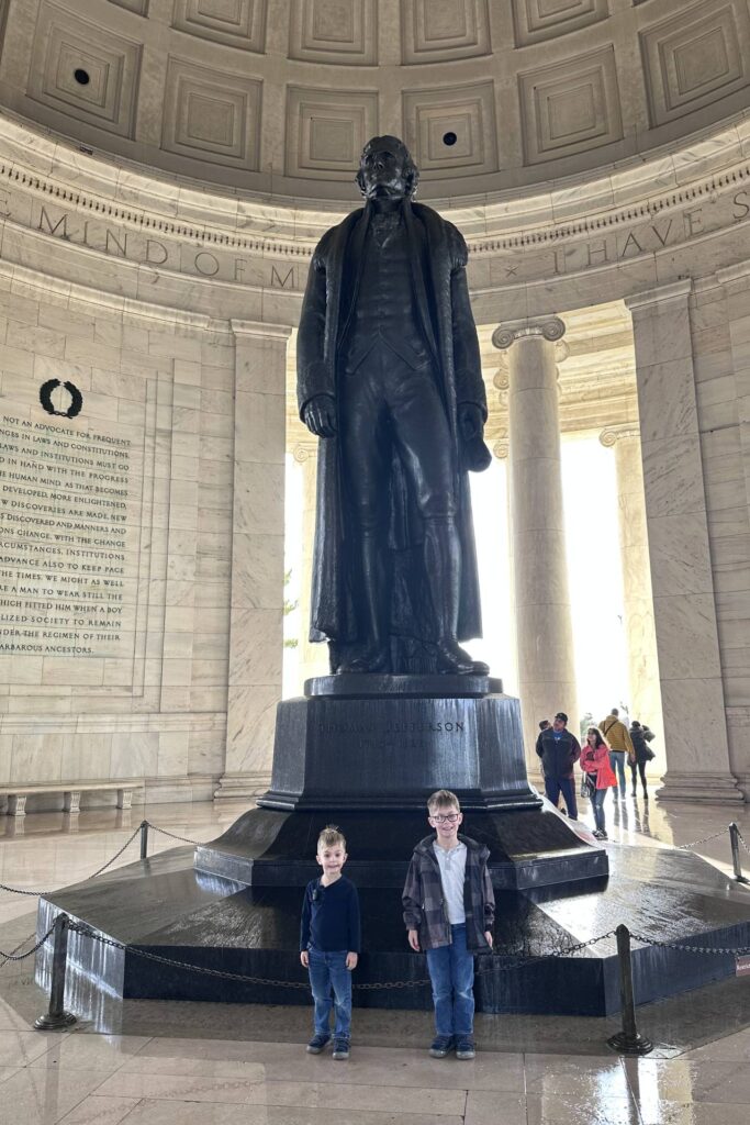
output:
[[[633,317],[667,772],[660,800],[740,802],[726,737],[687,279],[625,299]]]

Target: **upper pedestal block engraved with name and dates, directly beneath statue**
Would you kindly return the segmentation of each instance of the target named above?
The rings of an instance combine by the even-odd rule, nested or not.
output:
[[[277,709],[262,809],[424,813],[436,789],[461,807],[539,809],[518,701],[486,676],[322,676]]]

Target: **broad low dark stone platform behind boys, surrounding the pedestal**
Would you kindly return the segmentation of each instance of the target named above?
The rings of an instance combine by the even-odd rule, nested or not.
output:
[[[750,891],[698,856],[653,847],[609,846],[609,879],[562,888],[497,891],[494,957],[478,958],[479,1011],[612,1015],[620,992],[614,938],[584,952],[509,971],[519,956],[544,956],[586,942],[620,922],[657,940],[730,948],[750,943]],[[396,888],[360,889],[363,953],[354,975],[354,1005],[428,1009],[423,954],[406,944]],[[244,984],[171,969],[138,956],[157,953],[229,973],[305,984],[299,964],[301,891],[243,888],[193,867],[190,848],[175,848],[49,894],[40,900],[38,930],[64,910],[99,935],[127,946],[117,951],[71,934],[69,974],[123,998],[222,1000],[233,1004],[309,1004],[307,988]],[[48,981],[51,950],[37,957]],[[735,971],[731,954],[695,954],[635,942],[636,1004],[674,996]],[[356,986],[413,981],[415,987],[360,991]]]

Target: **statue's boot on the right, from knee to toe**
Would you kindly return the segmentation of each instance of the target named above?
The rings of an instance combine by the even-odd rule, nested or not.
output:
[[[487,676],[489,667],[473,660],[458,642],[461,542],[451,516],[426,519],[425,572],[437,624],[437,670],[454,676]]]

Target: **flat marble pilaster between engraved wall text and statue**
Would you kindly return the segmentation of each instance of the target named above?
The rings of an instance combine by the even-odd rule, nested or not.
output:
[[[290,330],[232,321],[234,496],[225,773],[217,798],[271,780],[283,655],[286,369]]]

